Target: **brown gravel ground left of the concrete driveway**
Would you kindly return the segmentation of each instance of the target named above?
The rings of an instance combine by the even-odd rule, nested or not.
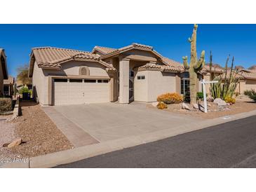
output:
[[[2,156],[27,158],[74,147],[38,104],[21,102],[21,106],[22,116],[12,122],[0,121],[0,152],[4,151]],[[21,145],[11,149],[2,147],[4,143],[18,137],[22,138]]]

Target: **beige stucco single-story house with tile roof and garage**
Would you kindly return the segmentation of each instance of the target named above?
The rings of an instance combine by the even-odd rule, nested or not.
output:
[[[132,101],[156,102],[164,92],[189,89],[180,62],[151,46],[95,46],[91,52],[65,48],[32,48],[29,63],[33,94],[42,105]],[[199,74],[199,81],[203,78]]]

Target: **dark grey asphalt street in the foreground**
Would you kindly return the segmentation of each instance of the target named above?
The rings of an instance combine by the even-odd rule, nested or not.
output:
[[[256,167],[256,116],[58,167]]]

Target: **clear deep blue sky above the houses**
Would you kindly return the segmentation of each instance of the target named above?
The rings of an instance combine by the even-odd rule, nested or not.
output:
[[[6,50],[8,72],[16,76],[29,63],[31,49],[40,46],[92,50],[94,46],[120,48],[130,43],[153,46],[163,56],[182,62],[190,55],[187,41],[193,25],[0,25],[0,47]],[[213,62],[224,65],[228,54],[235,64],[256,64],[256,25],[198,25],[197,50],[210,50]]]

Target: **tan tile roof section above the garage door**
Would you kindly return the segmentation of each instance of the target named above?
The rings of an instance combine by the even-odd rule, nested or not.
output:
[[[32,54],[34,54],[38,66],[42,68],[60,69],[60,64],[69,60],[92,60],[100,62],[105,65],[105,67],[113,68],[111,65],[107,64],[107,62],[100,60],[99,55],[87,51],[42,47],[33,48]]]

